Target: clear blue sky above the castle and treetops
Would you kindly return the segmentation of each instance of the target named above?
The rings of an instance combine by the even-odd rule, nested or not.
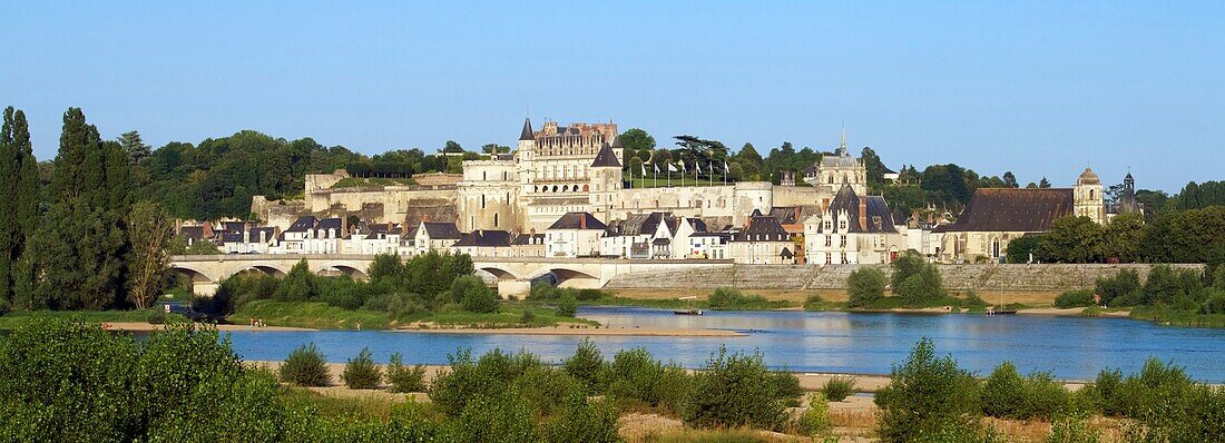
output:
[[[341,4],[4,1],[0,104],[40,159],[67,106],[154,147],[251,128],[368,154],[513,144],[530,114],[763,155],[845,121],[894,169],[1023,184],[1225,179],[1223,1]]]

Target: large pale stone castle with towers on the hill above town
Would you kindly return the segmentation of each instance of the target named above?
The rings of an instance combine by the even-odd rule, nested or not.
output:
[[[616,124],[559,125],[534,130],[523,121],[517,149],[489,159],[466,160],[462,175],[414,176],[417,185],[333,187],[343,176],[306,179],[304,201],[252,201],[252,213],[271,225],[292,224],[298,215],[358,215],[369,223],[454,222],[461,231],[543,233],[567,213],[586,212],[601,223],[631,214],[666,212],[706,219],[712,226],[740,226],[751,214],[777,207],[810,212],[828,207],[843,184],[866,195],[864,163],[843,144],[811,169],[820,185],[784,186],[766,181],[627,187]],[[833,179],[829,179],[833,177]],[[692,177],[691,177],[692,179]],[[837,184],[827,184],[834,180]],[[663,179],[660,179],[663,181]],[[817,180],[810,180],[810,182]]]

